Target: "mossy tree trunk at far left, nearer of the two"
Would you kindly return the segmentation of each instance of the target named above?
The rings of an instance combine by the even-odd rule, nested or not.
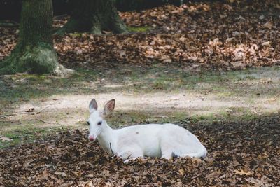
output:
[[[52,0],[23,0],[19,41],[0,63],[0,74],[50,74],[57,67],[52,43]]]

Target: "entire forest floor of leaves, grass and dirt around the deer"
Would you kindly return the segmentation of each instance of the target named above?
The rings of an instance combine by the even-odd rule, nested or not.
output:
[[[76,74],[0,79],[0,186],[280,186],[280,11],[270,2],[163,6],[121,13],[130,34],[55,36]],[[0,60],[17,33],[0,28]],[[93,97],[101,108],[116,99],[112,127],[176,123],[209,155],[125,165],[87,141]]]

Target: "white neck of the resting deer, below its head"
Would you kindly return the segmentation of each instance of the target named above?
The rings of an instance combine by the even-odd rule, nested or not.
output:
[[[98,136],[99,144],[102,146],[104,151],[109,154],[116,153],[116,130],[113,130],[107,123],[103,124],[103,130]],[[112,153],[113,151],[113,153]]]

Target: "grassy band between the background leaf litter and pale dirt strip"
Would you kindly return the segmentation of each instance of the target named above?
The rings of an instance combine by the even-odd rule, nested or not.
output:
[[[267,71],[267,73],[264,73]],[[269,71],[280,74],[280,69],[251,69],[246,71],[206,71],[200,74],[182,71],[181,69],[166,69],[166,67],[153,66],[143,69],[130,67],[127,69],[113,69],[104,71],[100,69],[76,69],[71,78],[55,78],[52,76],[37,76],[19,74],[0,80],[0,104],[20,102],[33,98],[48,97],[50,95],[89,94],[90,92],[118,92],[130,90],[133,92],[161,92],[190,90],[212,91],[217,95],[251,96],[260,94],[276,95],[280,81],[270,83],[271,89],[261,89],[265,85],[252,85],[250,81],[258,78],[269,78]],[[260,74],[255,76],[254,74]],[[125,75],[125,76],[124,76]],[[271,75],[270,75],[271,76]],[[276,76],[277,77],[277,76]],[[271,78],[273,78],[271,76]],[[104,81],[103,81],[104,80]],[[248,82],[244,84],[244,81]],[[121,85],[116,88],[106,88],[106,83]],[[248,90],[250,90],[248,92]],[[251,97],[250,96],[250,97]]]

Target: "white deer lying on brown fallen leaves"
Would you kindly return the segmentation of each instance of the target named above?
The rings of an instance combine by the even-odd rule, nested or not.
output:
[[[97,102],[90,102],[90,141],[98,139],[104,150],[120,158],[172,158],[186,157],[204,158],[206,148],[194,134],[178,125],[150,124],[134,125],[121,129],[112,129],[105,117],[115,108],[115,99],[111,99],[104,107],[104,111],[97,111]]]

